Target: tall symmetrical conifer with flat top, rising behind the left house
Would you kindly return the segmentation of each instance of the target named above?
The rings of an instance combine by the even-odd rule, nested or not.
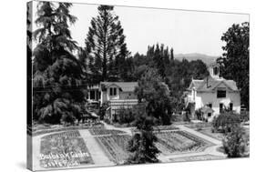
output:
[[[124,62],[129,52],[118,15],[113,12],[114,6],[100,5],[97,10],[98,15],[91,20],[85,42],[91,72],[98,81],[106,81],[124,76],[127,72]]]

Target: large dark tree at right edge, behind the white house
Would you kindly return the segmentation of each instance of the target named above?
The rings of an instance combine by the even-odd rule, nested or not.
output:
[[[220,76],[236,81],[241,89],[241,103],[249,109],[249,23],[232,25],[221,40],[223,56],[217,59],[220,64]]]

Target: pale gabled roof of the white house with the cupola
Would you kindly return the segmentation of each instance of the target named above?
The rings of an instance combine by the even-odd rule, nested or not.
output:
[[[225,86],[229,87],[230,90],[232,91],[239,90],[235,81],[226,80],[222,77],[213,78],[211,76],[208,76],[203,80],[192,79],[191,84],[189,86],[189,90],[191,90],[194,87],[197,91],[211,91],[212,89],[220,86],[220,84],[224,84]]]

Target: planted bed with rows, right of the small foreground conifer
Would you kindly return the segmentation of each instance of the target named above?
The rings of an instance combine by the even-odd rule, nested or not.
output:
[[[202,151],[210,144],[184,131],[170,131],[156,134],[157,147],[164,155]]]

